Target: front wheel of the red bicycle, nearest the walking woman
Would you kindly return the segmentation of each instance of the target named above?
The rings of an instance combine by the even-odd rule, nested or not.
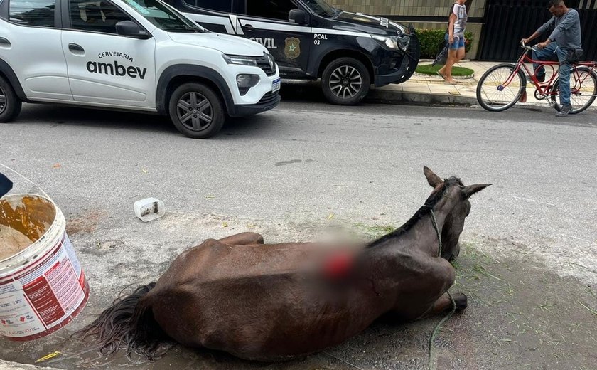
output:
[[[489,68],[477,85],[477,101],[490,112],[507,110],[520,100],[527,81],[519,70],[512,75],[515,65],[504,63]]]

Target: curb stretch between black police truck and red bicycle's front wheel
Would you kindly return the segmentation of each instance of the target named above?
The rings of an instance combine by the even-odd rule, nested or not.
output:
[[[467,97],[463,95],[446,95],[434,93],[412,93],[407,91],[370,90],[366,101],[382,102],[384,104],[400,104],[401,102],[412,102],[415,104],[432,104],[432,105],[476,105],[477,99],[475,97]]]

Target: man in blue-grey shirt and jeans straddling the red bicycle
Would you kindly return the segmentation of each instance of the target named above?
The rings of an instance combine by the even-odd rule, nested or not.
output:
[[[558,77],[560,80],[561,110],[556,117],[566,117],[572,109],[570,105],[570,70],[571,63],[578,61],[582,54],[581,21],[579,12],[570,9],[564,0],[549,0],[549,12],[554,16],[543,26],[539,27],[529,38],[523,38],[522,43],[529,43],[545,31],[554,28],[546,41],[537,43],[539,50],[532,52],[534,60],[558,60]],[[545,80],[545,69],[537,63],[533,65],[537,80]]]

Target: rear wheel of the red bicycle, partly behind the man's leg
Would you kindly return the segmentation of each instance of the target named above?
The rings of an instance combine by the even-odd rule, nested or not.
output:
[[[561,104],[559,102],[559,78],[554,82],[554,92],[552,102],[559,112]],[[580,113],[590,107],[595,101],[597,95],[597,73],[586,67],[576,67],[570,71],[570,105],[572,109],[568,112],[571,115]]]

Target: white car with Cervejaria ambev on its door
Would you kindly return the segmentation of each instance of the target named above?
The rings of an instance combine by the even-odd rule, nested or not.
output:
[[[159,0],[0,0],[0,122],[22,102],[169,115],[207,138],[279,104],[274,58]]]

